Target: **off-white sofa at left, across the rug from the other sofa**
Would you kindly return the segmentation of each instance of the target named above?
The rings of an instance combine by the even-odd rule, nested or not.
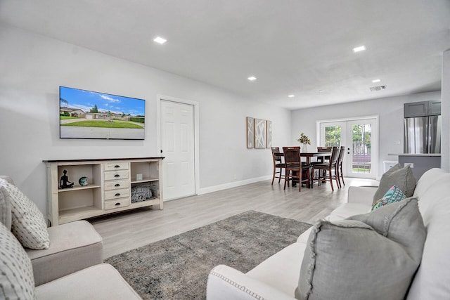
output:
[[[49,247],[23,247],[11,232],[15,221],[5,181],[13,185],[11,178],[0,176],[0,299],[141,299],[113,266],[103,263],[102,237],[86,221],[44,224]]]

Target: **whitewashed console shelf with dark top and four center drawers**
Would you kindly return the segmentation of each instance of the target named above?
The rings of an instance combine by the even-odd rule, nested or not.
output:
[[[44,160],[50,226],[139,207],[162,209],[162,159]],[[78,184],[81,177],[87,185]]]

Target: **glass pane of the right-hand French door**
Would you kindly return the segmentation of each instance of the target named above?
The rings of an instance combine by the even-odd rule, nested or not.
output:
[[[371,173],[371,124],[352,126],[352,171],[354,173]]]

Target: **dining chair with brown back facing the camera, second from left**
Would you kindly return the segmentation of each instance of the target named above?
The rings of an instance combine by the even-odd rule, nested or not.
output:
[[[300,162],[300,147],[283,147],[284,163],[285,163],[285,178],[284,189],[286,189],[286,183],[289,181],[298,181],[298,190],[302,190],[302,183],[309,184],[309,176],[302,179],[302,173],[309,173],[309,166]]]

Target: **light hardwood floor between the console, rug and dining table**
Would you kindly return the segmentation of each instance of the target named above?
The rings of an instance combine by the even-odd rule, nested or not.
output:
[[[286,187],[271,181],[260,181],[238,188],[167,201],[164,209],[136,209],[112,214],[91,223],[103,237],[103,258],[141,247],[151,242],[199,228],[243,211],[255,210],[284,218],[314,223],[347,201],[351,185],[378,185],[378,181],[345,178],[345,187],[335,188],[330,183],[314,188]]]

